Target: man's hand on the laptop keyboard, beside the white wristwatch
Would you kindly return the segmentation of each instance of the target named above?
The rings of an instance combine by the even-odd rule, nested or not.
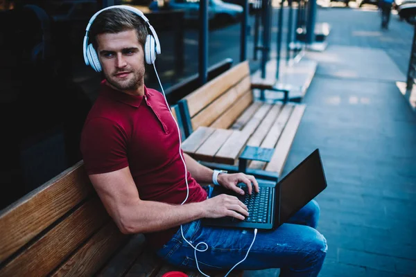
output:
[[[256,193],[259,193],[259,183],[257,183],[256,178],[252,175],[245,175],[244,173],[220,174],[218,175],[217,180],[218,184],[224,188],[239,193],[240,195],[244,195],[244,190],[237,186],[237,184],[241,182],[247,185],[248,194],[252,194],[252,186],[254,186]]]

